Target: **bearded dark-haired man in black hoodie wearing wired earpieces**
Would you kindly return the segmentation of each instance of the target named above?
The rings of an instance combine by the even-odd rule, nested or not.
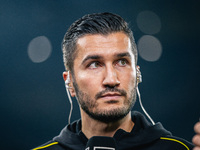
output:
[[[34,150],[194,147],[172,136],[160,123],[152,125],[139,112],[131,112],[141,76],[132,31],[120,16],[90,14],[74,22],[64,36],[63,58],[63,78],[71,96],[78,100],[81,119]],[[196,150],[200,149],[199,130],[198,123],[193,138]]]

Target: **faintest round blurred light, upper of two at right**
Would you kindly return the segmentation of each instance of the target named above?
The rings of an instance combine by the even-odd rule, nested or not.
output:
[[[160,18],[152,11],[140,12],[136,22],[139,29],[145,34],[156,34],[161,29]]]

